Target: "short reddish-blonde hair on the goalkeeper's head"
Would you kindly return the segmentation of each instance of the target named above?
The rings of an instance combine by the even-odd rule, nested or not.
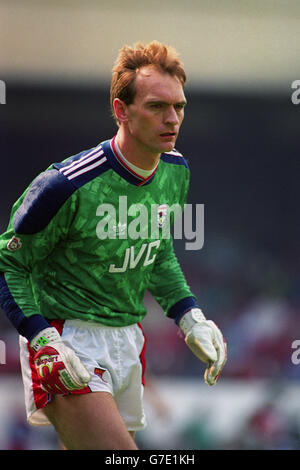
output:
[[[184,87],[186,74],[183,63],[172,46],[158,41],[152,41],[149,44],[138,42],[132,47],[124,45],[120,49],[112,69],[110,106],[115,119],[113,107],[115,98],[119,98],[127,105],[133,103],[136,93],[134,86],[136,74],[139,69],[147,65],[153,65],[164,73],[176,76]]]

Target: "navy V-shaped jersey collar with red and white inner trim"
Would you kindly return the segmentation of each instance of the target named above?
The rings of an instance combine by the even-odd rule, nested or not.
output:
[[[121,155],[118,153],[115,145],[116,136],[110,140],[106,140],[102,144],[102,149],[104,150],[105,156],[107,157],[111,167],[116,171],[122,178],[124,178],[128,183],[134,184],[135,186],[144,186],[151,183],[155,176],[155,170],[147,178],[143,178],[141,175],[138,175],[131,168],[126,165]]]

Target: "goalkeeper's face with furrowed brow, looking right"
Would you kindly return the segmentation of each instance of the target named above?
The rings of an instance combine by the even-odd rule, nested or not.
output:
[[[153,154],[171,151],[186,104],[179,79],[147,66],[138,72],[135,88],[134,101],[127,106],[131,138],[138,147]]]

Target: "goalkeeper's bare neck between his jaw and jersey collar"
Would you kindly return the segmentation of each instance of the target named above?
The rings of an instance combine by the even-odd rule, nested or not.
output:
[[[116,140],[126,160],[142,170],[154,170],[157,166],[160,153],[154,154],[145,148],[140,148],[133,139],[126,138],[124,132],[119,128]]]

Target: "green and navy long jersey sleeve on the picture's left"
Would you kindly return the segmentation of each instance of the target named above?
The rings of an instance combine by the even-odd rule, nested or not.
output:
[[[74,202],[61,194],[58,179],[55,170],[38,176],[14,204],[0,237],[0,306],[28,339],[49,326],[35,300],[32,271],[66,236],[71,220]]]

